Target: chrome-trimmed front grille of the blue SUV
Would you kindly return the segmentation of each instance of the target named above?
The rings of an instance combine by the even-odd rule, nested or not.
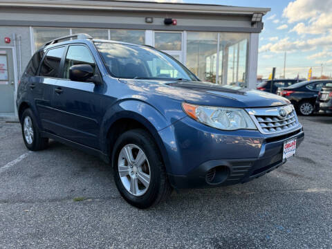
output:
[[[281,116],[280,109],[286,111],[286,116]],[[299,124],[295,110],[291,105],[286,107],[250,109],[248,111],[257,124],[259,131],[264,134],[288,131],[294,129]]]

